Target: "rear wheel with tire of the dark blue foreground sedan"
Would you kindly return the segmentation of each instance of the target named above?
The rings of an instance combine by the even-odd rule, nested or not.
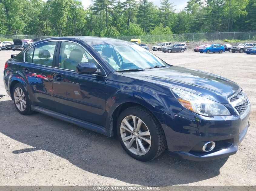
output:
[[[13,102],[19,113],[22,115],[29,115],[34,113],[31,110],[31,103],[28,98],[28,93],[21,83],[14,86],[12,91]]]

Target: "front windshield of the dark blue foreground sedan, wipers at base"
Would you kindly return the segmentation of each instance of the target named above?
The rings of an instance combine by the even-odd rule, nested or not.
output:
[[[168,66],[148,50],[132,43],[120,41],[90,41],[87,43],[94,47],[114,70]]]

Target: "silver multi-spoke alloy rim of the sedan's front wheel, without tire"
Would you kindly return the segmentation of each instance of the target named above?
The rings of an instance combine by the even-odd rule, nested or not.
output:
[[[127,116],[120,127],[121,138],[129,151],[138,156],[147,154],[151,146],[148,127],[137,116]]]

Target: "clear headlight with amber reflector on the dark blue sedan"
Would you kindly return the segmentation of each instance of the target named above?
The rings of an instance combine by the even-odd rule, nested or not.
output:
[[[188,110],[198,113],[203,116],[212,115],[231,115],[228,109],[221,103],[209,100],[202,96],[170,88],[177,100]]]

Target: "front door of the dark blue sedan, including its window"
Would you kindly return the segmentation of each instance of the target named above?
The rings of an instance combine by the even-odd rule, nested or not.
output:
[[[105,126],[105,75],[78,74],[81,62],[98,62],[77,43],[60,41],[59,64],[53,70],[56,111]],[[102,69],[102,68],[101,68]]]

